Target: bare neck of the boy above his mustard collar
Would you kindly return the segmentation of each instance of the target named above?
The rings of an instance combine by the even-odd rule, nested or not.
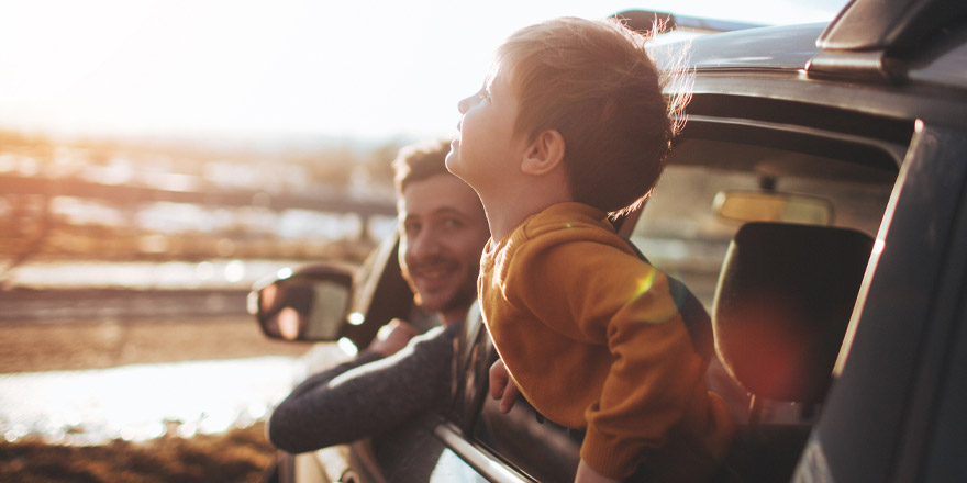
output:
[[[542,189],[531,186],[518,193],[501,193],[496,196],[480,196],[487,222],[490,224],[490,237],[498,243],[514,231],[529,216],[557,204],[574,201],[567,190]]]

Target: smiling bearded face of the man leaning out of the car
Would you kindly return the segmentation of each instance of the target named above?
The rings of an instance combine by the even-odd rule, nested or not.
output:
[[[477,193],[448,173],[413,181],[397,203],[400,266],[427,312],[462,319],[477,296],[480,252],[490,237]]]

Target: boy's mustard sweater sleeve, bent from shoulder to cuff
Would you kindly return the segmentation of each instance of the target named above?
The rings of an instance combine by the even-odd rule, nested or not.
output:
[[[588,424],[581,458],[604,475],[627,476],[643,456],[666,443],[702,387],[704,362],[668,280],[633,255],[600,244],[520,255],[527,261],[514,284],[521,303],[556,332],[610,353],[600,396],[580,408]]]

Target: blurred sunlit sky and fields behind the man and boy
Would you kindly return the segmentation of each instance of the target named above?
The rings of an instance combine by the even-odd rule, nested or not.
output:
[[[512,31],[843,3],[0,0],[0,480],[29,442],[257,428],[309,347],[265,339],[248,288],[394,229],[390,160],[456,134]]]

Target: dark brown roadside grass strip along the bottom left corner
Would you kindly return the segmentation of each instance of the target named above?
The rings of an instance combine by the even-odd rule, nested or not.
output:
[[[264,423],[219,435],[101,446],[0,439],[0,482],[258,482],[274,454]]]

